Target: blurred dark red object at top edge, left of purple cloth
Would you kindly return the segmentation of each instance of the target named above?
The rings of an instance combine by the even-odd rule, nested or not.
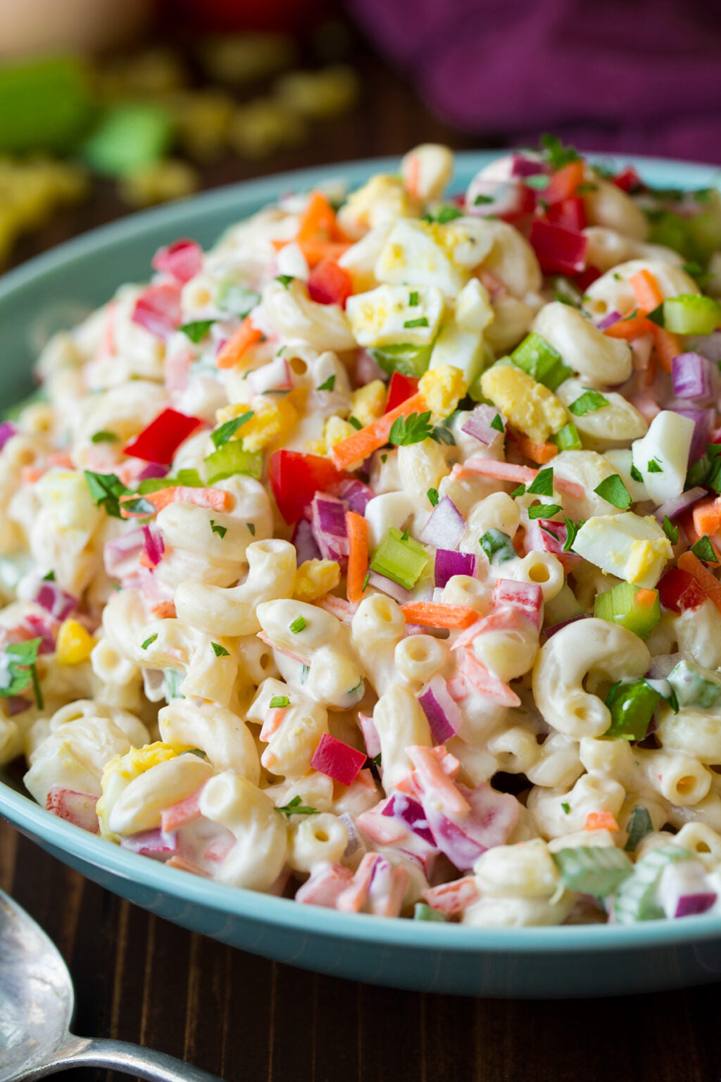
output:
[[[163,0],[162,15],[175,25],[190,23],[203,30],[307,31],[321,19],[337,15],[330,0]]]

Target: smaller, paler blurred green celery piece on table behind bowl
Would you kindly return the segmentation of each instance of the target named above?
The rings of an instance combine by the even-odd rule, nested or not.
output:
[[[124,176],[160,161],[173,138],[173,118],[162,105],[123,102],[108,107],[80,148],[98,173]]]

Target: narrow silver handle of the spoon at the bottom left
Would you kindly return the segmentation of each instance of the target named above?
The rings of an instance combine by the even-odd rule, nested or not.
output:
[[[30,1074],[26,1082],[64,1071],[68,1067],[108,1067],[149,1082],[221,1082],[215,1074],[186,1064],[175,1056],[153,1048],[143,1048],[128,1041],[81,1038],[68,1034],[52,1060]]]

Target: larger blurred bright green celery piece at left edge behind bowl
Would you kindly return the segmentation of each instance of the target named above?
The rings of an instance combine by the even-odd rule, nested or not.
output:
[[[90,71],[80,57],[5,61],[0,68],[0,154],[72,150],[94,109]]]

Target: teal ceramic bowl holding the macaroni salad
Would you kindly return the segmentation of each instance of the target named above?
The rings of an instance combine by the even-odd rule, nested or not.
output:
[[[491,158],[462,154],[456,184]],[[658,186],[707,187],[711,167],[637,159]],[[79,237],[0,278],[2,406],[28,393],[46,331],[70,326],[124,281],[148,277],[162,243],[191,236],[211,245],[232,222],[321,177],[351,184],[397,160],[305,170],[252,181],[125,219]],[[165,868],[88,834],[24,795],[0,771],[0,814],[59,860],[107,889],[193,932],[308,969],[372,984],[460,995],[630,994],[721,979],[721,918],[689,916],[631,927],[466,928],[383,920],[299,906]]]

